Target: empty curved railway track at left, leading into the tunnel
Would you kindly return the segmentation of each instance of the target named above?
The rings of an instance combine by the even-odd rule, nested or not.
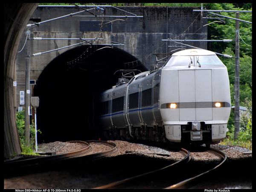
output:
[[[98,140],[89,140],[89,141],[69,141],[69,143],[83,143],[85,147],[68,153],[63,154],[55,154],[50,156],[44,157],[35,157],[29,158],[25,160],[13,160],[7,161],[4,163],[4,171],[5,172],[17,172],[19,169],[26,169],[26,168],[34,168],[34,167],[45,167],[51,166],[52,164],[56,164],[56,162],[63,161],[63,160],[71,160],[74,157],[82,158],[83,161],[94,160],[99,157],[104,157],[108,154],[114,153],[117,148],[114,143],[109,143],[106,141],[98,141]],[[93,147],[92,144],[98,143],[99,145],[107,145],[110,149],[101,152],[92,152]],[[28,170],[28,169],[26,169]]]

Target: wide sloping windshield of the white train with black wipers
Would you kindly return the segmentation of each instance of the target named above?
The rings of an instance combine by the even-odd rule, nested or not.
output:
[[[166,62],[169,66],[204,66],[204,65],[224,65],[217,55],[173,55]]]

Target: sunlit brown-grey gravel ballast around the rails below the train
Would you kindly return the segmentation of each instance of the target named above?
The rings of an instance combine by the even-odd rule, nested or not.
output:
[[[175,151],[168,151],[163,148],[143,145],[143,144],[137,144],[137,143],[129,143],[127,141],[120,141],[120,140],[111,140],[109,141],[111,143],[116,144],[117,151],[113,154],[110,154],[109,156],[117,156],[121,154],[126,153],[137,153],[137,154],[144,154],[149,157],[158,157],[158,158],[166,158],[166,159],[173,159],[173,160],[180,160],[183,158],[182,154]],[[93,144],[91,144],[93,145]],[[82,143],[68,143],[68,142],[52,142],[52,143],[43,143],[38,145],[38,151],[55,151],[56,154],[62,154],[67,153],[71,151],[77,151],[82,148],[86,147],[86,145]],[[218,149],[220,151],[223,151],[227,154],[227,157],[230,159],[239,159],[239,158],[247,158],[251,157],[252,154],[250,154],[252,151],[245,147],[239,147],[239,146],[229,146],[229,145],[211,145],[212,148]],[[99,145],[97,148],[97,145],[93,145],[94,151],[103,151],[107,150],[108,146],[105,148],[102,148],[102,145]],[[216,159],[218,158],[213,157],[212,154],[209,154],[209,152],[201,152],[200,154],[197,154],[195,152],[192,152],[192,155],[194,157],[194,160],[209,160],[210,158]]]

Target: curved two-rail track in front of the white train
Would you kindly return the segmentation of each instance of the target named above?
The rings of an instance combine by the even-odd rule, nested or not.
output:
[[[205,150],[205,148],[203,148]],[[130,177],[124,180],[120,180],[114,183],[110,183],[104,186],[99,186],[93,189],[145,189],[145,188],[151,188],[151,187],[157,187],[158,189],[187,189],[190,186],[193,186],[197,183],[200,183],[202,181],[202,177],[206,176],[209,172],[212,172],[213,170],[216,170],[219,168],[223,163],[227,160],[227,155],[223,152],[208,148],[207,151],[210,153],[217,155],[221,158],[221,161],[218,162],[217,165],[215,165],[213,168],[207,169],[203,172],[195,172],[195,170],[191,170],[192,174],[189,174],[189,178],[184,179],[184,177],[181,178],[173,178],[173,173],[175,172],[182,172],[181,167],[186,164],[186,168],[183,169],[185,172],[189,172],[187,167],[189,167],[192,161],[192,156],[190,152],[186,149],[181,149],[180,153],[184,155],[184,158],[180,161],[177,161],[169,166],[163,167],[161,169],[157,169],[151,172],[147,172],[141,175],[137,175],[134,177]],[[191,167],[191,166],[190,166]],[[187,169],[187,170],[186,170]],[[172,174],[171,174],[172,173]],[[194,174],[193,174],[194,173]],[[169,175],[172,175],[170,178]],[[154,178],[154,179],[152,179]],[[180,181],[177,181],[179,180]],[[175,181],[176,180],[176,181]],[[168,186],[168,182],[173,183],[170,186]],[[151,184],[150,184],[151,183]],[[155,184],[152,184],[155,183]],[[159,184],[163,183],[163,184]],[[152,185],[152,186],[150,186]],[[154,186],[155,185],[155,186]],[[163,187],[164,186],[164,187]],[[167,186],[167,187],[166,187]]]

